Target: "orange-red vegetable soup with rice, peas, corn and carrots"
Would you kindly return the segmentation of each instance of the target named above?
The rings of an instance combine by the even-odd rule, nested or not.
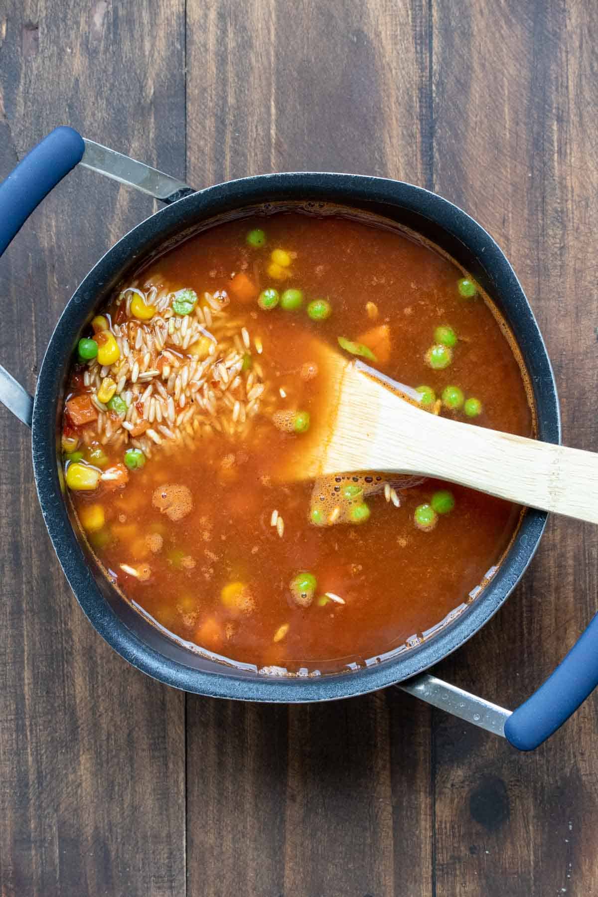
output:
[[[272,674],[412,646],[479,594],[521,509],[430,479],[281,483],[324,413],[316,336],[429,414],[533,435],[523,364],[477,283],[397,227],[286,212],[198,232],[93,318],[65,482],[108,577],[173,636]]]

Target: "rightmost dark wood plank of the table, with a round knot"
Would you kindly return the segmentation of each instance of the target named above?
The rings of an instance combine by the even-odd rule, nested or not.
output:
[[[595,4],[434,4],[434,188],[506,249],[546,338],[563,438],[598,449]],[[596,611],[595,529],[552,520],[530,570],[446,675],[516,704]],[[594,695],[536,753],[435,720],[438,894],[598,893]]]

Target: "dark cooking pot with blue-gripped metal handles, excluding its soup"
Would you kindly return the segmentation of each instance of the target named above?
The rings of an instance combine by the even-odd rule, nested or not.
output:
[[[598,617],[550,678],[511,713],[444,683],[425,670],[457,649],[496,613],[533,557],[546,514],[527,509],[498,571],[479,597],[412,648],[334,675],[273,676],[255,666],[227,666],[187,649],[135,610],[102,573],[78,536],[65,501],[60,454],[65,377],[82,328],[140,261],[212,222],[243,213],[301,205],[344,205],[375,213],[420,233],[471,272],[511,327],[533,384],[538,438],[559,442],[557,391],[542,335],[507,258],[480,224],[445,199],[400,181],[351,174],[293,172],[233,180],[195,191],[107,147],[58,127],[0,185],[0,254],[32,210],[81,163],[160,199],[165,207],[138,224],[87,274],[50,337],[35,396],[0,369],[0,401],[31,427],[39,503],[66,579],[100,635],[134,666],[187,692],[244,701],[330,701],[401,684],[407,692],[506,736],[530,750],[550,736],[598,681]]]

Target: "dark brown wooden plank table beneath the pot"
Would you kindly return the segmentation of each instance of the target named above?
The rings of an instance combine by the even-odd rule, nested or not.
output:
[[[598,5],[499,0],[4,0],[0,174],[52,127],[204,187],[276,170],[421,184],[512,260],[598,449]],[[0,261],[0,358],[33,390],[94,261],[152,202],[75,170]],[[390,688],[333,705],[175,692],[66,587],[0,411],[2,897],[592,897],[595,698],[548,745]],[[550,521],[507,605],[438,668],[515,706],[594,614],[596,530]]]

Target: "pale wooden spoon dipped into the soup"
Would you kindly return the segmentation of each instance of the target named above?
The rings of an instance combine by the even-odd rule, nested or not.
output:
[[[418,393],[363,362],[321,343],[316,355],[324,413],[290,449],[282,478],[420,474],[598,523],[598,454],[430,414]]]

